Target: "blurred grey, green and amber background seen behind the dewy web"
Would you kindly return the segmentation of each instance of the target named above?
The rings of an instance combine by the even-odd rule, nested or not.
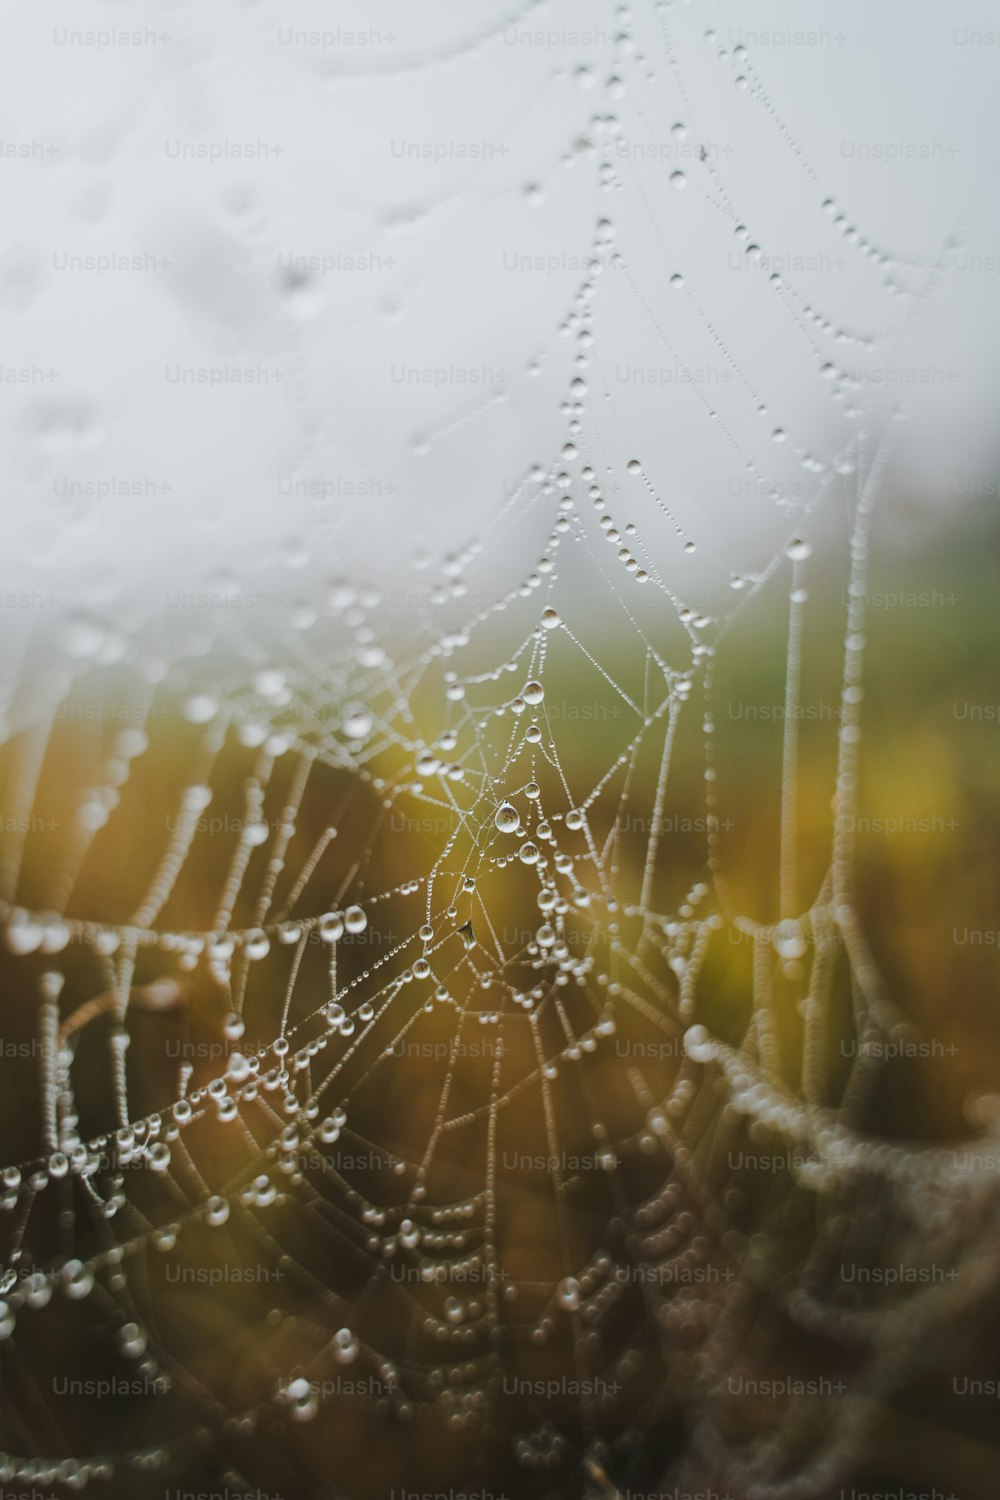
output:
[[[705,38],[709,27],[714,44]],[[109,30],[135,34],[108,40]],[[9,210],[0,244],[3,831],[15,842],[22,810],[15,789],[30,759],[31,724],[46,702],[93,710],[57,724],[33,802],[40,822],[31,824],[16,892],[7,894],[33,909],[58,904],[54,872],[66,862],[69,836],[57,830],[72,824],[81,788],[103,774],[120,729],[102,705],[132,702],[132,632],[163,663],[162,717],[81,870],[67,906],[81,920],[127,916],[156,868],[178,790],[201,774],[201,728],[180,711],[192,682],[222,682],[238,696],[261,662],[277,662],[292,675],[313,672],[310,708],[319,704],[336,720],[340,688],[331,672],[324,704],[322,663],[339,663],[345,650],[345,586],[358,591],[373,638],[409,660],[448,632],[460,636],[471,616],[517,590],[567,488],[597,548],[598,519],[579,464],[565,459],[570,486],[555,478],[573,420],[562,404],[574,357],[583,354],[579,446],[609,512],[619,524],[634,522],[679,603],[714,621],[735,616],[718,650],[714,692],[721,858],[733,906],[762,922],[778,908],[787,564],[759,592],[753,584],[792,532],[813,546],[798,838],[808,904],[831,852],[858,454],[843,472],[832,460],[859,432],[864,471],[892,423],[868,579],[858,906],[894,1004],[931,1046],[889,1060],[861,1128],[906,1150],[915,1142],[961,1150],[996,1130],[1000,46],[990,8],[892,3],[873,10],[849,0],[834,12],[760,0],[712,14],[567,0],[505,16],[481,0],[462,8],[429,0],[418,9],[345,3],[331,16],[328,6],[298,0],[45,3],[10,12],[0,34],[0,172]],[[739,45],[747,63],[732,56]],[[727,57],[718,57],[720,46]],[[736,80],[748,74],[754,87],[741,88]],[[676,172],[682,186],[670,182]],[[828,200],[832,212],[823,208]],[[745,236],[736,232],[741,225]],[[844,232],[850,226],[856,234]],[[763,260],[747,254],[750,244]],[[600,261],[594,336],[582,344],[577,327],[567,338],[561,330],[592,255]],[[100,256],[135,260],[109,266]],[[775,272],[781,288],[769,284]],[[678,276],[682,285],[672,284]],[[850,338],[817,332],[807,309]],[[834,372],[823,370],[829,362]],[[894,417],[898,406],[904,411]],[[774,442],[775,428],[786,442]],[[804,456],[820,458],[825,472],[804,465]],[[634,458],[642,474],[627,466]],[[664,507],[694,554],[684,550]],[[576,536],[558,560],[564,621],[595,658],[588,662],[562,633],[552,636],[547,712],[574,792],[607,770],[627,734],[598,668],[636,693],[646,669],[639,630],[621,608],[621,578],[609,582],[600,560],[597,572]],[[462,657],[463,669],[501,664],[534,626],[540,597],[528,591],[505,616],[492,616]],[[645,638],[670,664],[687,666],[690,640],[664,594],[628,582],[625,597]],[[714,630],[706,626],[708,636]],[[177,663],[183,668],[174,670]],[[72,687],[76,670],[84,682]],[[300,702],[283,716],[279,699],[268,712],[292,718]],[[415,694],[411,705],[412,734],[427,744],[442,728],[435,704]],[[675,824],[654,884],[661,912],[673,912],[706,873],[699,711],[687,705],[672,762],[666,814]],[[498,738],[504,730],[501,723]],[[384,774],[397,772],[399,747],[390,744],[382,760]],[[213,772],[213,812],[228,810],[234,826],[253,765],[246,747],[229,744]],[[637,770],[633,806],[645,813],[657,770],[652,753]],[[279,776],[267,808],[273,819],[285,789]],[[303,807],[289,867],[304,861],[330,808],[355,794],[351,776],[324,771]],[[372,888],[424,873],[433,856],[441,830],[430,840],[409,828],[370,843],[367,788],[351,806],[337,813],[339,844],[322,888],[310,891],[310,912],[336,900],[360,850],[370,855]],[[178,927],[210,924],[237,842],[238,832],[222,832],[196,844],[169,914]],[[616,870],[633,900],[645,844],[646,830],[637,828]],[[489,906],[501,930],[517,933],[520,896],[510,884],[490,886]],[[382,916],[381,927],[412,936],[405,903],[388,904]],[[249,921],[249,909],[238,920]],[[628,938],[637,940],[637,926]],[[729,930],[720,948],[697,1018],[738,1044],[751,957]],[[348,954],[345,970],[360,968],[367,951]],[[171,969],[166,978],[180,984],[180,998],[163,1014],[144,999],[141,987],[165,978],[159,962],[144,964],[133,996],[136,1108],[165,1106],[175,1094],[177,1053],[168,1042],[204,1048],[192,1053],[196,1082],[213,1076],[229,1044],[223,998],[201,969]],[[16,1005],[4,1036],[27,1044],[46,960],[4,956],[3,964]],[[70,950],[66,974],[63,1020],[103,982],[85,948]],[[276,960],[259,972],[249,1035],[273,1035],[279,980]],[[795,968],[778,982],[792,1089],[801,1082],[792,1060],[801,984]],[[306,975],[297,999],[303,1016],[321,994],[322,976]],[[438,1024],[445,1036],[444,1023],[430,1023]],[[91,1132],[112,1124],[109,1036],[102,1012],[79,1044],[81,1108]],[[841,1044],[850,1036],[844,966],[825,1056],[831,1102],[849,1072]],[[636,1023],[624,1041],[654,1046],[660,1034]],[[4,1056],[4,1160],[27,1156],[37,1140],[43,1100],[34,1062]],[[522,1062],[511,1048],[508,1065]],[[657,1096],[679,1066],[676,1048],[646,1058]],[[459,1095],[469,1107],[484,1096],[487,1074],[489,1059],[469,1064]],[[652,1142],[646,1160],[630,1166],[634,1202],[654,1191],[658,1168],[663,1176],[658,1152],[666,1148],[649,1136],[622,1074],[612,1059],[598,1092],[612,1134]],[[393,1076],[391,1089],[369,1090],[352,1128],[409,1172],[430,1130],[441,1062],[400,1060]],[[567,1083],[561,1125],[583,1150],[592,1143],[589,1102],[574,1088]],[[685,1108],[681,1128],[693,1138],[709,1138],[718,1126],[723,1144],[744,1140],[744,1125],[721,1106],[721,1125],[708,1106],[694,1124]],[[537,1098],[508,1130],[511,1149],[543,1149]],[[766,1132],[748,1131],[747,1140],[762,1150],[775,1146]],[[442,1197],[481,1182],[481,1156],[478,1134],[456,1146]],[[196,1158],[214,1188],[244,1154],[226,1132],[205,1130]],[[396,1182],[391,1168],[370,1164],[351,1176],[387,1202],[402,1202],[409,1186],[406,1174]],[[325,1186],[322,1174],[316,1180]],[[748,1262],[754,1270],[747,1250],[766,1239],[795,1280],[825,1220],[814,1196],[799,1191],[793,1172],[772,1167],[726,1186],[730,1234],[712,1245],[720,1275],[730,1264],[744,1274]],[[147,1190],[136,1184],[133,1191],[138,1200]],[[586,1179],[574,1209],[580,1246],[601,1244],[615,1222],[618,1204],[609,1198],[603,1179],[597,1186]],[[882,1242],[886,1206],[871,1198],[850,1209],[877,1262],[895,1254],[897,1242],[888,1232]],[[924,1206],[930,1218],[933,1204]],[[142,1208],[157,1222],[172,1212],[151,1194]],[[349,1300],[357,1287],[343,1248],[346,1221],[331,1254],[331,1240],[310,1234],[292,1209],[280,1218],[279,1238]],[[709,1224],[706,1203],[693,1198],[691,1212],[700,1233]],[[996,1372],[997,1290],[987,1264],[996,1220],[987,1210],[978,1220],[966,1204],[955,1215],[955,1258],[973,1266],[981,1294],[975,1305],[955,1299],[928,1359],[904,1359],[898,1395],[876,1402],[871,1440],[847,1476],[858,1488],[936,1485],[961,1500],[996,1492],[993,1408],[958,1400],[954,1388],[961,1376]],[[553,1218],[546,1173],[505,1174],[504,1256],[525,1281],[544,1284],[559,1274]],[[39,1262],[55,1254],[55,1214],[37,1215],[33,1234]],[[94,1236],[82,1248],[99,1242]],[[907,1240],[898,1252],[910,1248]],[[267,1260],[258,1244],[240,1239],[235,1216],[225,1238],[205,1232],[178,1256],[201,1269]],[[792,1330],[780,1275],[772,1266],[757,1270],[747,1276],[754,1336],[747,1334],[745,1350],[757,1368],[837,1372],[840,1356],[825,1332]],[[261,1392],[267,1398],[276,1372],[303,1358],[313,1320],[331,1316],[321,1292],[300,1294],[291,1282],[280,1294],[270,1282],[207,1293],[201,1284],[168,1284],[159,1263],[142,1275],[135,1294],[154,1310],[178,1364],[232,1410]],[[763,1332],[754,1323],[757,1296]],[[57,1322],[58,1308],[24,1364],[7,1356],[3,1440],[12,1450],[103,1452],[190,1430],[198,1404],[186,1407],[180,1394],[169,1402],[60,1406],[46,1388],[54,1372],[120,1365],[106,1336],[108,1304],[93,1312],[82,1304],[72,1332]],[[285,1318],[271,1318],[274,1310]],[[634,1298],[618,1334],[625,1338],[642,1320]],[[375,1347],[412,1348],[391,1299],[370,1312],[363,1334]],[[678,1320],[673,1359],[664,1360],[651,1336],[648,1364],[633,1371],[640,1396],[666,1392],[666,1414],[637,1444],[630,1496],[664,1492],[670,1466],[688,1452],[685,1358],[696,1342],[693,1324]],[[877,1350],[879,1338],[873,1342]],[[564,1371],[568,1360],[559,1328],[555,1347],[528,1350],[522,1374]],[[616,1416],[619,1428],[633,1414],[627,1407]],[[769,1416],[766,1402],[736,1402],[732,1431],[766,1426]],[[582,1452],[576,1402],[556,1420],[571,1434],[573,1452]],[[436,1416],[406,1428],[361,1398],[334,1402],[325,1424],[291,1436],[279,1424],[264,1437],[238,1434],[229,1456],[238,1449],[246,1478],[268,1492],[301,1486],[306,1494],[322,1482],[330,1488],[316,1492],[384,1494],[411,1480],[415,1488],[414,1476],[451,1486],[486,1478],[495,1492],[604,1500],[619,1492],[612,1480],[583,1474],[579,1462],[552,1488],[544,1473],[525,1478],[510,1462],[510,1437],[526,1425],[523,1413],[507,1410],[477,1454],[466,1434]],[[210,1484],[220,1472],[219,1452],[207,1444],[183,1478]],[[691,1482],[706,1473],[697,1461],[685,1472]],[[132,1474],[115,1479],[121,1492],[133,1482]],[[150,1494],[163,1490],[160,1474],[141,1482]]]

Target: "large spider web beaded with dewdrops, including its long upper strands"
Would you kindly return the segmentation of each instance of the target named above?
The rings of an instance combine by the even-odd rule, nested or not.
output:
[[[4,1482],[288,1486],[327,1473],[324,1432],[339,1461],[313,1492],[385,1492],[399,1474],[372,1444],[414,1431],[451,1444],[453,1476],[523,1492],[825,1496],[990,1281],[969,1250],[996,1222],[987,1146],[871,1128],[880,1044],[916,1032],[853,880],[895,426],[841,357],[898,348],[945,261],[885,250],[825,200],[753,58],[685,12],[684,44],[762,112],[805,232],[840,237],[882,321],[843,327],[771,270],[703,148],[672,16],[655,8],[654,78],[618,9],[594,69],[613,110],[567,146],[601,202],[552,330],[570,352],[546,354],[537,387],[562,432],[480,534],[423,560],[408,610],[352,576],[280,627],[81,616],[10,656]],[[651,134],[684,164],[669,194],[622,152]],[[696,195],[718,254],[756,267],[837,441],[771,412],[667,250],[661,200]],[[726,372],[718,399],[690,381],[667,406],[705,426],[706,465],[753,486],[756,566],[702,540],[658,406],[610,380],[619,298],[651,360],[699,350]],[[414,462],[504,399],[442,418]],[[846,558],[849,604],[813,879],[799,726],[819,543]],[[786,660],[777,879],[751,910],[717,676],[760,610],[786,621]],[[55,855],[48,824],[69,830]],[[903,1263],[912,1284],[849,1288],[847,1262]],[[957,1278],[927,1284],[942,1263]],[[55,1368],[82,1396],[58,1414]],[[100,1449],[97,1370],[115,1398],[156,1396]],[[774,1400],[748,1407],[750,1389]]]

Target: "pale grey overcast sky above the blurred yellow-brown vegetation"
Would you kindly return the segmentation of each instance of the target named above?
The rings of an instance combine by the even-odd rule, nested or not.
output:
[[[132,616],[460,548],[565,441],[595,236],[586,452],[726,566],[852,405],[903,399],[901,477],[961,502],[997,468],[999,33],[967,0],[9,9],[4,586]]]

